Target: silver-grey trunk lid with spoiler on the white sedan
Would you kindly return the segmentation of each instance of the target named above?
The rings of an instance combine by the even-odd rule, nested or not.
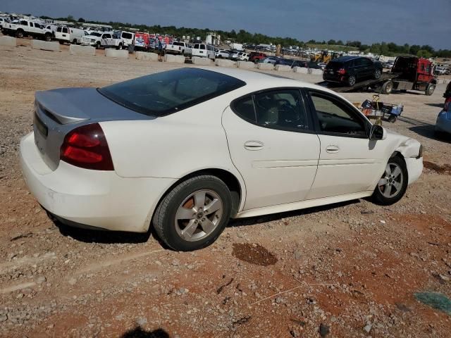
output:
[[[33,116],[35,144],[44,162],[56,170],[64,137],[75,127],[109,120],[152,119],[114,103],[95,88],[37,92]]]

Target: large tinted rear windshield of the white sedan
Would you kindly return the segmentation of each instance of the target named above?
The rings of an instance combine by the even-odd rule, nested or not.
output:
[[[158,117],[200,104],[245,84],[235,77],[211,70],[180,68],[138,77],[98,90],[100,94],[121,106]]]

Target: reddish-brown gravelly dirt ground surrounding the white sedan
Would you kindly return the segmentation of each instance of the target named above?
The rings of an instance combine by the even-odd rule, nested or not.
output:
[[[414,298],[451,296],[450,142],[433,137],[445,84],[432,96],[382,96],[404,104],[384,127],[418,139],[428,161],[397,204],[362,199],[234,220],[213,245],[181,253],[152,234],[58,227],[18,163],[35,91],[181,65],[20,44],[0,47],[1,337],[450,337],[450,315]]]

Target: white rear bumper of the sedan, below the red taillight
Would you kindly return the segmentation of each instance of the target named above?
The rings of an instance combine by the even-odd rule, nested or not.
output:
[[[42,161],[32,132],[20,141],[20,165],[32,195],[63,223],[115,231],[147,232],[159,199],[176,182],[123,178],[115,171],[87,170],[63,161],[52,171]]]

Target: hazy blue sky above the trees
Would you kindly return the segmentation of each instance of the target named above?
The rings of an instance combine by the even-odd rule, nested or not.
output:
[[[451,49],[451,0],[0,0],[0,11]]]

